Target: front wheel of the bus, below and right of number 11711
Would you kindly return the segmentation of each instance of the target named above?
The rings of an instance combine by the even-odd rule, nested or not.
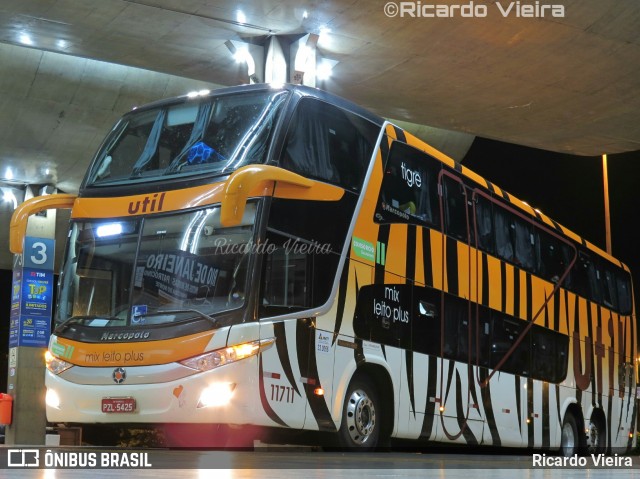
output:
[[[338,431],[340,445],[354,451],[370,451],[378,445],[382,427],[378,392],[366,376],[351,380]]]

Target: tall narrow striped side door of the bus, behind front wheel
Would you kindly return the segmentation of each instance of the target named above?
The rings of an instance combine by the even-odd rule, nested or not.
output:
[[[438,181],[442,231],[440,328],[440,424],[442,440],[479,444],[482,440],[475,380],[476,263],[471,228],[471,191],[453,173]]]

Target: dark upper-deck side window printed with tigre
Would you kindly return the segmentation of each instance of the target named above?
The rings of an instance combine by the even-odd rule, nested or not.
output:
[[[375,220],[438,225],[439,165],[427,154],[394,142],[384,170]]]

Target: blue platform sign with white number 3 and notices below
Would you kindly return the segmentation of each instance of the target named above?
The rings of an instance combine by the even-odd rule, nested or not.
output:
[[[23,266],[14,266],[9,347],[47,347],[53,305],[54,240],[25,238]]]

